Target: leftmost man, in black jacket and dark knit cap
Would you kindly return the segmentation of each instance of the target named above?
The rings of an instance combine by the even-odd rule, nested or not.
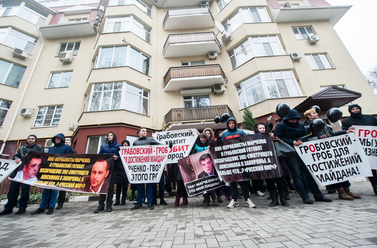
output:
[[[35,135],[29,135],[27,139],[28,143],[18,148],[17,153],[13,156],[13,160],[17,164],[19,164],[25,156],[28,154],[29,151],[40,151],[43,152],[44,148],[41,145],[37,145],[37,136]],[[19,170],[19,167],[15,169],[12,174],[10,175],[11,178],[14,178]],[[0,215],[6,215],[8,213],[13,212],[13,207],[17,205],[17,197],[18,192],[20,192],[21,187],[21,197],[19,200],[19,208],[18,211],[15,213],[16,215],[19,215],[21,213],[26,212],[26,208],[28,207],[28,201],[29,201],[29,191],[30,191],[30,184],[25,183],[19,183],[16,181],[11,181],[9,184],[9,191],[6,195],[8,198],[8,202],[4,206],[4,210],[0,212]]]

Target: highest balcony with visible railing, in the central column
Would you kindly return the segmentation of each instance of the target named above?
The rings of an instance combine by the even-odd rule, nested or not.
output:
[[[197,29],[214,26],[214,19],[208,5],[168,9],[162,23],[164,30]]]

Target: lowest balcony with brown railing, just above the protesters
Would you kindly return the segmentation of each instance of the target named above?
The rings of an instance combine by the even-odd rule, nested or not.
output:
[[[230,117],[234,118],[233,112],[228,107],[228,105],[215,105],[215,106],[203,106],[203,107],[180,107],[180,108],[170,109],[170,111],[165,115],[164,123],[162,124],[162,126],[164,127],[170,126],[169,130],[178,130],[178,129],[186,129],[186,128],[195,128],[198,130],[202,130],[208,127],[208,124],[209,124],[208,122],[214,122],[213,118],[216,115],[221,116],[223,113],[228,113]],[[199,124],[195,122],[207,122],[207,123]],[[177,123],[179,123],[179,125],[173,125]],[[182,127],[182,125],[184,127]],[[203,125],[203,127],[201,128],[200,125]],[[226,126],[225,123],[219,123],[219,125],[217,125],[216,128],[221,128],[220,125],[221,127]]]

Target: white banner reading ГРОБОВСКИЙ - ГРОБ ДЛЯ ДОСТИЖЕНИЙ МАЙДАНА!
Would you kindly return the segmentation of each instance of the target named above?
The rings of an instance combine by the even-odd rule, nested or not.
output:
[[[354,133],[309,141],[294,148],[318,186],[372,175],[368,158]]]

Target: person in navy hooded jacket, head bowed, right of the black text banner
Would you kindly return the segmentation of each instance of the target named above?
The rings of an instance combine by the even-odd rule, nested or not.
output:
[[[274,135],[291,146],[299,146],[302,142],[308,141],[306,137],[308,136],[308,131],[305,126],[299,122],[300,119],[301,117],[296,110],[289,110],[288,114],[284,116],[283,122],[276,125]],[[314,181],[314,178],[308,171],[305,163],[302,162],[299,154],[295,153],[285,159],[285,161],[291,171],[294,186],[296,186],[297,192],[304,203],[313,204],[313,201],[310,199],[309,194],[305,189],[304,177],[306,177],[310,191],[313,193],[316,201],[333,201],[330,198],[325,197],[319,190],[316,181]],[[305,174],[305,176],[303,174]]]

